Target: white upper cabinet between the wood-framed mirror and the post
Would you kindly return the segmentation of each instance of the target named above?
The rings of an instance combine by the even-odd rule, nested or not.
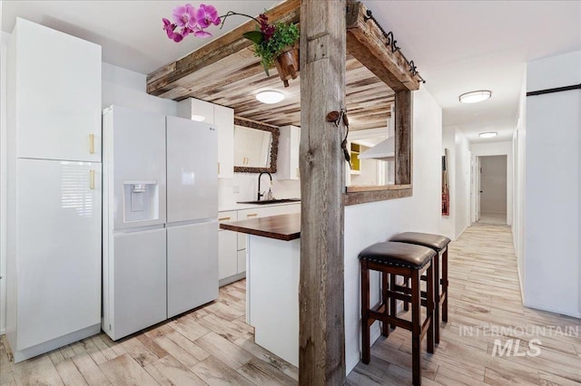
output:
[[[300,179],[299,145],[300,128],[282,126],[279,128],[279,159],[277,164],[277,179]]]

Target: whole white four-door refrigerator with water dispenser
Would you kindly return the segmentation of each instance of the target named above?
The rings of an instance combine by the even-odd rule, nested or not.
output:
[[[113,340],[218,297],[217,130],[103,111],[103,331]]]

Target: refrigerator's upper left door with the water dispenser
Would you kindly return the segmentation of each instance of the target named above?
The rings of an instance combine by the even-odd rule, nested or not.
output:
[[[114,229],[144,227],[165,223],[165,116],[113,106],[103,117],[105,136],[113,157]],[[111,135],[113,131],[113,136]],[[139,220],[130,218],[134,184],[143,184],[151,212]]]

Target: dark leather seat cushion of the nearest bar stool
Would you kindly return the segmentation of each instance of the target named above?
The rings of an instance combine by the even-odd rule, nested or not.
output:
[[[436,252],[426,246],[393,241],[384,241],[368,246],[359,253],[360,260],[415,269],[427,265],[434,256],[436,256]]]

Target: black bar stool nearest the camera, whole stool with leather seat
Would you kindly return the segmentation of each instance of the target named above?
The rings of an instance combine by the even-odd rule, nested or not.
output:
[[[433,249],[425,246],[386,241],[368,246],[359,253],[361,261],[361,325],[362,325],[362,362],[369,364],[371,347],[369,327],[377,321],[383,323],[381,333],[389,336],[389,324],[397,325],[411,332],[411,357],[413,384],[421,382],[421,341],[428,333],[428,352],[434,352],[434,272],[432,259],[437,256]],[[382,275],[383,291],[381,304],[376,309],[369,306],[369,270],[379,271]],[[426,299],[422,300],[420,276],[426,272]],[[389,289],[388,275],[392,277]],[[395,276],[411,280],[411,287],[401,292],[396,289]],[[411,322],[396,316],[395,307],[389,307],[393,299],[411,303]],[[420,306],[427,309],[426,319],[420,321]]]

